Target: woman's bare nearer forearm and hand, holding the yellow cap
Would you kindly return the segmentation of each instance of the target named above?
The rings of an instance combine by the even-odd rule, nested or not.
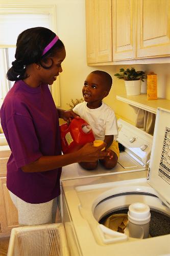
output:
[[[108,152],[101,151],[105,146],[105,143],[99,147],[94,147],[93,143],[87,143],[77,152],[59,156],[42,156],[32,163],[22,166],[21,169],[25,173],[46,172],[71,163],[94,162],[104,159],[108,155]]]

